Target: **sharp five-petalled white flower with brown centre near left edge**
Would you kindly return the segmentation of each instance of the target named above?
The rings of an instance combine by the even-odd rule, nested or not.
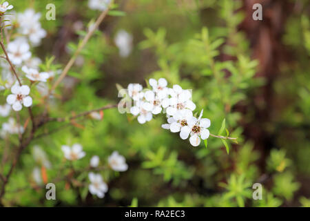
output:
[[[30,88],[27,85],[19,86],[18,84],[14,84],[11,88],[11,92],[12,94],[6,97],[6,102],[12,105],[14,111],[21,111],[23,106],[29,107],[32,105],[32,98],[28,96]]]

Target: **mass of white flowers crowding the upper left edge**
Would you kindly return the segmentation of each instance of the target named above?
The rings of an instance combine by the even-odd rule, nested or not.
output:
[[[12,9],[13,6],[9,6],[8,2],[4,2],[0,5],[0,14],[3,16],[3,22],[5,28],[14,28],[15,37],[8,42],[7,52],[8,59],[12,62],[15,71],[12,71],[12,67],[8,62],[1,61],[2,67],[1,79],[3,85],[0,86],[0,90],[10,89],[12,94],[8,95],[6,101],[7,104],[12,106],[14,111],[21,111],[23,106],[32,106],[32,97],[30,97],[30,87],[26,85],[27,79],[31,82],[37,82],[37,90],[41,95],[46,95],[48,85],[46,81],[54,76],[54,72],[41,72],[39,65],[41,59],[38,57],[32,57],[30,46],[39,46],[41,40],[46,37],[47,32],[41,27],[40,18],[41,13],[35,12],[32,8],[26,9],[24,12],[16,13],[14,11],[10,14],[6,13],[6,10]],[[12,33],[12,31],[10,31]],[[17,76],[19,81],[17,81]],[[4,108],[4,105],[2,105]],[[2,107],[1,106],[1,107]],[[2,116],[8,116],[10,108],[6,106],[6,109],[1,108]],[[10,112],[10,111],[9,111]]]

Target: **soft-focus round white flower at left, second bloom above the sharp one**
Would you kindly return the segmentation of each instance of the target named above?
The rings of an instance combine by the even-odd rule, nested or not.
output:
[[[15,39],[8,44],[8,57],[13,64],[19,66],[31,57],[30,46],[23,39]]]

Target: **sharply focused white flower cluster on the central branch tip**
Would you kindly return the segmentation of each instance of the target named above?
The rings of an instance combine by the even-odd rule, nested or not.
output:
[[[151,90],[144,89],[141,84],[129,84],[127,94],[134,101],[130,113],[137,116],[140,124],[149,122],[153,115],[159,113],[167,114],[167,124],[162,127],[172,133],[180,133],[180,138],[189,142],[192,146],[198,146],[200,140],[209,137],[211,122],[203,117],[203,111],[198,118],[194,117],[193,111],[196,105],[192,102],[192,93],[179,85],[172,88],[167,87],[167,80],[164,78],[149,79]]]

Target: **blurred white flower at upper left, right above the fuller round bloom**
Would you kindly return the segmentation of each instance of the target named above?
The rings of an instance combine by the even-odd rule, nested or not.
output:
[[[46,31],[41,28],[41,23],[32,23],[32,26],[21,27],[22,35],[26,35],[33,46],[39,46],[41,39],[46,37]]]

